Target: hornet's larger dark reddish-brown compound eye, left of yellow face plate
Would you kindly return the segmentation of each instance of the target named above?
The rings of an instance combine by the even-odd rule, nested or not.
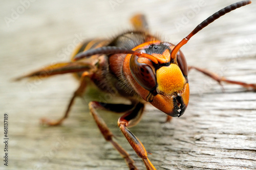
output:
[[[140,50],[140,52],[144,53],[144,50]],[[157,86],[155,69],[153,65],[148,65],[150,63],[152,64],[151,60],[146,59],[145,61],[148,63],[146,64],[138,62],[138,58],[136,55],[131,56],[130,69],[132,75],[139,85],[148,91],[152,91]]]

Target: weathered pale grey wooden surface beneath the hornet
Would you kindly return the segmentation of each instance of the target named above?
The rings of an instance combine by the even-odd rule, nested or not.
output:
[[[0,108],[9,114],[9,166],[0,169],[127,169],[76,100],[59,127],[42,127],[40,117],[62,116],[78,83],[71,75],[11,82],[44,65],[68,61],[81,39],[112,37],[130,29],[135,13],[147,16],[153,33],[178,43],[198,23],[236,1],[203,1],[195,16],[183,20],[200,1],[35,1],[9,27],[4,17],[22,10],[20,2],[0,2]],[[112,8],[110,3],[116,2]],[[256,4],[218,19],[182,47],[189,65],[208,68],[229,79],[256,83]],[[20,12],[20,11],[19,11]],[[22,11],[21,11],[22,12]],[[14,14],[13,14],[14,15]],[[184,22],[186,21],[186,22]],[[178,30],[174,23],[184,23]],[[184,115],[163,124],[165,114],[148,105],[130,130],[151,152],[157,169],[256,169],[256,93],[239,86],[221,87],[199,72],[189,72],[190,103]],[[90,98],[87,98],[90,101]],[[100,112],[118,142],[144,169],[117,127],[119,115]]]

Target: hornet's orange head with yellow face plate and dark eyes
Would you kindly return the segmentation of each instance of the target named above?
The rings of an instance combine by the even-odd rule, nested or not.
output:
[[[135,91],[146,102],[164,113],[181,116],[189,100],[187,64],[182,52],[170,57],[174,45],[168,42],[150,41],[133,48],[152,58],[127,55],[123,72]]]

